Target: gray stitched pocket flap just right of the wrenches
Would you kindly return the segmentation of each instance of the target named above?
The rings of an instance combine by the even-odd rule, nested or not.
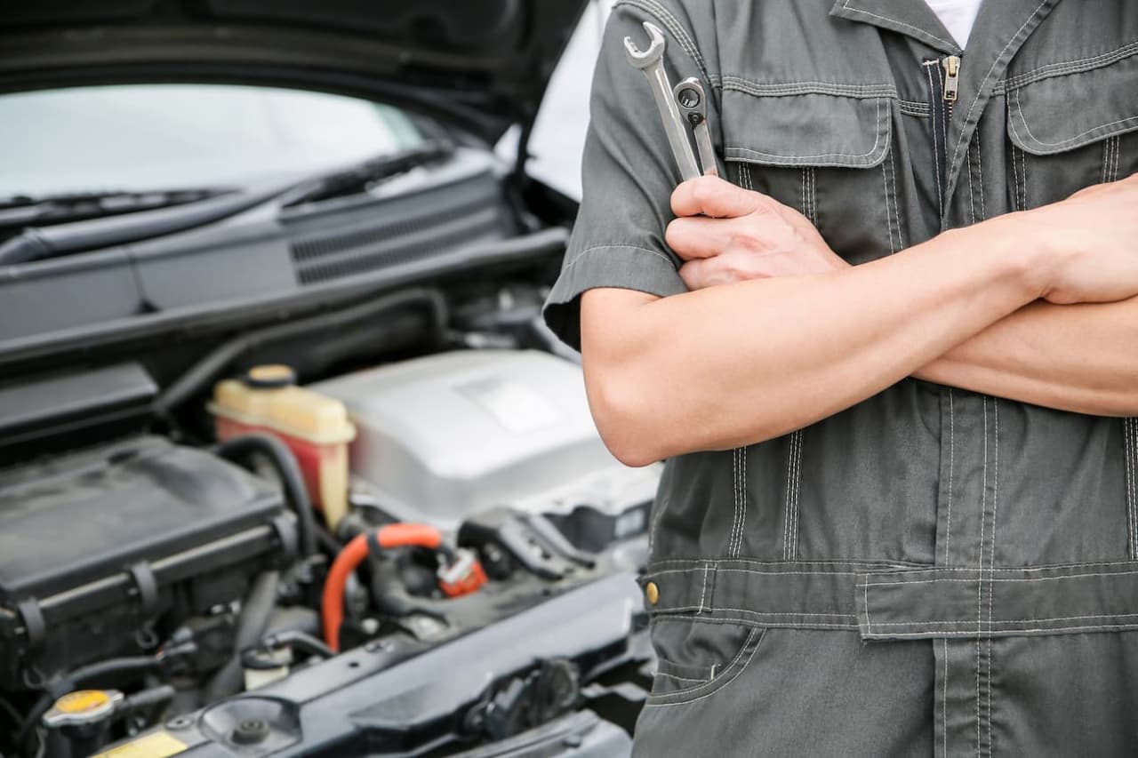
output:
[[[765,166],[869,168],[889,153],[893,98],[756,96],[724,82],[724,156]]]

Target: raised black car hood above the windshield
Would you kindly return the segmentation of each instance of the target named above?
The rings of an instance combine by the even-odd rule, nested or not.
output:
[[[487,139],[536,113],[587,0],[0,2],[0,91],[239,81],[379,97]]]

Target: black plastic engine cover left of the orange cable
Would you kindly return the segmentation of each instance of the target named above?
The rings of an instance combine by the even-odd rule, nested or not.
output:
[[[146,650],[295,541],[267,483],[158,437],[0,471],[0,682]]]

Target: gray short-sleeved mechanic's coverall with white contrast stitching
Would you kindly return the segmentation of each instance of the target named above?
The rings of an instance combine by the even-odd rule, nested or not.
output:
[[[1138,1],[988,0],[962,51],[917,0],[620,0],[545,312],[571,345],[586,289],[685,289],[644,20],[712,94],[724,176],[855,264],[1138,168]],[[636,755],[1138,753],[1136,458],[1131,419],[906,379],[669,460]]]

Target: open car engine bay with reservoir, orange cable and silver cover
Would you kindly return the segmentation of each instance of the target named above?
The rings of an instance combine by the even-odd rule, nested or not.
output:
[[[626,745],[660,471],[605,450],[542,295],[406,288],[0,385],[0,753]]]

